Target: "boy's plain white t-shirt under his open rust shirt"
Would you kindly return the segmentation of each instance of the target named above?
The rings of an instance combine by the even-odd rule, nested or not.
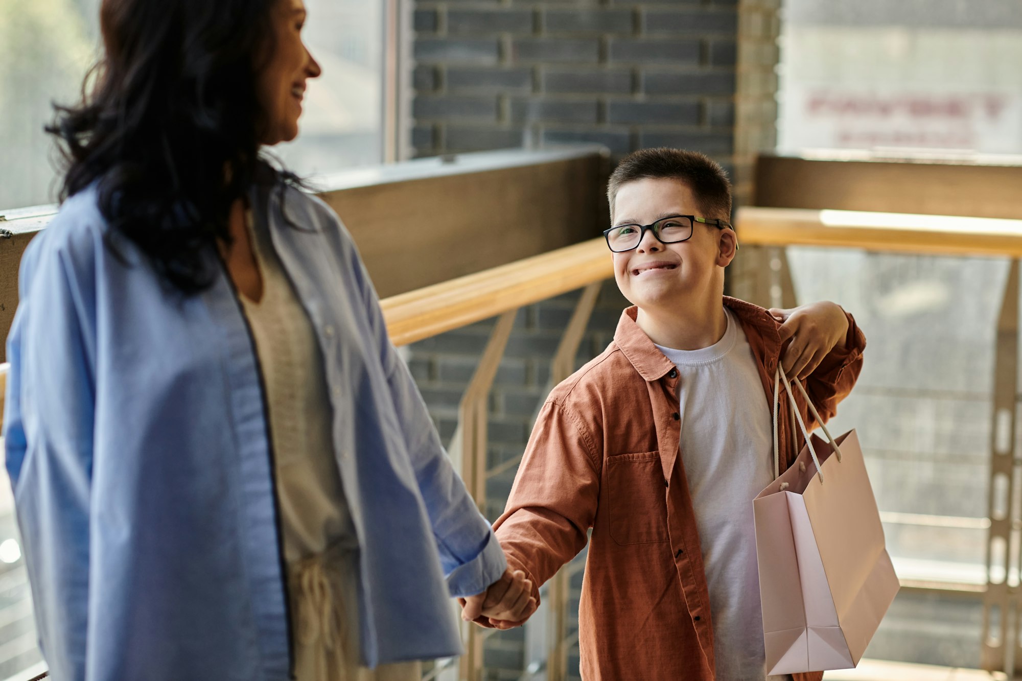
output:
[[[681,457],[709,588],[716,679],[763,681],[752,499],[774,479],[774,436],[749,343],[725,313],[728,330],[709,348],[657,348],[680,374]]]

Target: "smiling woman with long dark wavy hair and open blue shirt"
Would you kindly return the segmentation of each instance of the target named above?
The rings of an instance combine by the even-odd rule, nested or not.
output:
[[[52,130],[66,200],[22,261],[4,423],[60,681],[412,679],[459,652],[451,595],[536,606],[351,237],[260,160],[320,74],[305,18],[104,0]]]

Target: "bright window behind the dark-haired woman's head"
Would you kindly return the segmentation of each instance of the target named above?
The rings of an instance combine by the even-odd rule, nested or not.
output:
[[[310,82],[298,139],[273,151],[299,175],[384,161],[386,0],[307,0],[305,36],[323,66]],[[0,208],[55,201],[58,155],[43,126],[51,103],[79,99],[99,55],[100,0],[0,4]],[[391,32],[392,33],[392,32]],[[389,71],[389,70],[388,70]],[[16,163],[12,163],[16,161]]]

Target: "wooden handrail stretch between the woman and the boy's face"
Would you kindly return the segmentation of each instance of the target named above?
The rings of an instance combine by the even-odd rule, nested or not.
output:
[[[614,275],[603,238],[583,241],[380,302],[404,346],[582,288]]]

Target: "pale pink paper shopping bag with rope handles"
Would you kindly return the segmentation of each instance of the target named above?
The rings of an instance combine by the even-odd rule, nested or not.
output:
[[[793,403],[778,371],[776,391],[783,377]],[[898,591],[858,438],[823,430],[827,440],[806,435],[795,463],[752,504],[769,674],[855,667]]]

